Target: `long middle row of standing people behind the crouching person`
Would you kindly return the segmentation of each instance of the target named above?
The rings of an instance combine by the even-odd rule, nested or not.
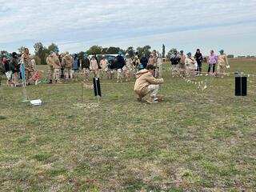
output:
[[[150,57],[146,54],[142,58],[136,54],[134,57],[129,57],[128,54],[123,55],[118,53],[114,58],[106,58],[105,55],[71,55],[68,52],[65,54],[57,54],[51,52],[46,58],[49,66],[48,79],[49,82],[61,82],[64,79],[72,79],[76,74],[83,74],[85,81],[89,80],[90,74],[94,78],[117,78],[117,82],[130,81],[135,77],[138,70],[145,69],[147,65],[156,66],[154,76],[161,76],[162,58],[158,56],[154,50]],[[79,73],[80,72],[80,73]]]

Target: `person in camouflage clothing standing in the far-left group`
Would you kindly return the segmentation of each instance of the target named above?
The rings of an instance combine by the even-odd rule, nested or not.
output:
[[[34,68],[31,65],[30,50],[28,48],[25,48],[24,53],[22,54],[21,57],[21,62],[25,67],[26,83],[29,84],[29,80],[30,78],[32,78],[32,75],[34,73]]]

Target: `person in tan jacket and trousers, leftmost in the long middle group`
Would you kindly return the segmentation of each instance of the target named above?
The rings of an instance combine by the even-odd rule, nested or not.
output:
[[[46,58],[47,65],[49,66],[48,70],[48,80],[50,83],[59,82],[61,74],[61,62],[58,59],[57,54],[50,52],[50,55]]]

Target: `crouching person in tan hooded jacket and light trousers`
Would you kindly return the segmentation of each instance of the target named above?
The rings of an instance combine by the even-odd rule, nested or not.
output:
[[[158,102],[162,97],[158,95],[159,85],[163,83],[163,79],[154,78],[155,66],[148,65],[145,70],[140,70],[136,74],[136,82],[134,92],[138,95],[138,101],[142,102],[142,98],[150,95],[148,102]]]

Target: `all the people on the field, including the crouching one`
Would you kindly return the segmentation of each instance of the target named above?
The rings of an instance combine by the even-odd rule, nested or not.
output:
[[[170,56],[171,75],[173,77],[196,77],[202,74],[224,77],[229,62],[224,50],[219,55],[210,51],[209,56],[204,57],[198,49],[194,56],[189,52],[174,50]],[[110,56],[110,57],[108,57]],[[208,64],[207,72],[202,72],[202,63]],[[6,74],[9,86],[26,86],[37,84],[42,79],[42,71],[37,70],[36,62],[29,49],[25,49],[21,55],[12,53],[1,58],[2,71]],[[138,53],[134,57],[119,52],[117,55],[87,55],[87,54],[63,54],[51,51],[46,58],[48,65],[47,83],[62,83],[82,74],[85,82],[91,78],[116,78],[117,82],[130,81],[136,78],[134,92],[138,100],[150,94],[151,101],[158,102],[159,84],[163,83],[162,63],[163,58],[156,50],[150,55]],[[2,75],[0,75],[1,77]],[[22,83],[20,83],[22,81]],[[1,79],[0,79],[1,82]]]

